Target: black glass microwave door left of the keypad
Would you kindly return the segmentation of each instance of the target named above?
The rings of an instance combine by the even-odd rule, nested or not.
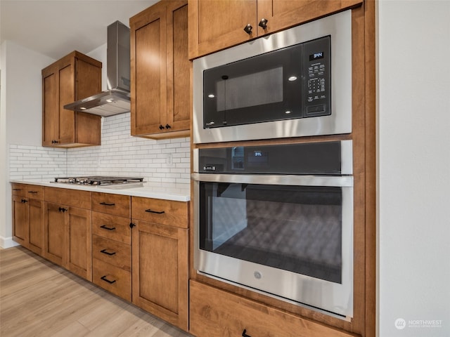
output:
[[[205,70],[204,128],[302,117],[302,45]]]

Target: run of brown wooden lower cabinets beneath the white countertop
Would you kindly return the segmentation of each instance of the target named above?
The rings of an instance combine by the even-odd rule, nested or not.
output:
[[[45,187],[44,201],[44,187],[35,192],[13,184],[15,241],[188,331],[188,202],[56,187]]]

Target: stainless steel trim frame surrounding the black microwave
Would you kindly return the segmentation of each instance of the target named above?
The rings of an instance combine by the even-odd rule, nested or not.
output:
[[[204,70],[327,35],[331,35],[332,39],[330,116],[203,128]],[[350,132],[352,132],[352,11],[350,10],[193,60],[193,143]]]

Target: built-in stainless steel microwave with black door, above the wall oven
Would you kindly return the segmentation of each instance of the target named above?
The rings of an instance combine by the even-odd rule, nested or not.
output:
[[[352,132],[345,11],[193,61],[193,142]]]

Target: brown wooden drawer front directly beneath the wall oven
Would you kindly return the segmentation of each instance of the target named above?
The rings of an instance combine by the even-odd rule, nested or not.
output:
[[[351,337],[316,322],[195,281],[190,283],[190,332],[195,336]]]

